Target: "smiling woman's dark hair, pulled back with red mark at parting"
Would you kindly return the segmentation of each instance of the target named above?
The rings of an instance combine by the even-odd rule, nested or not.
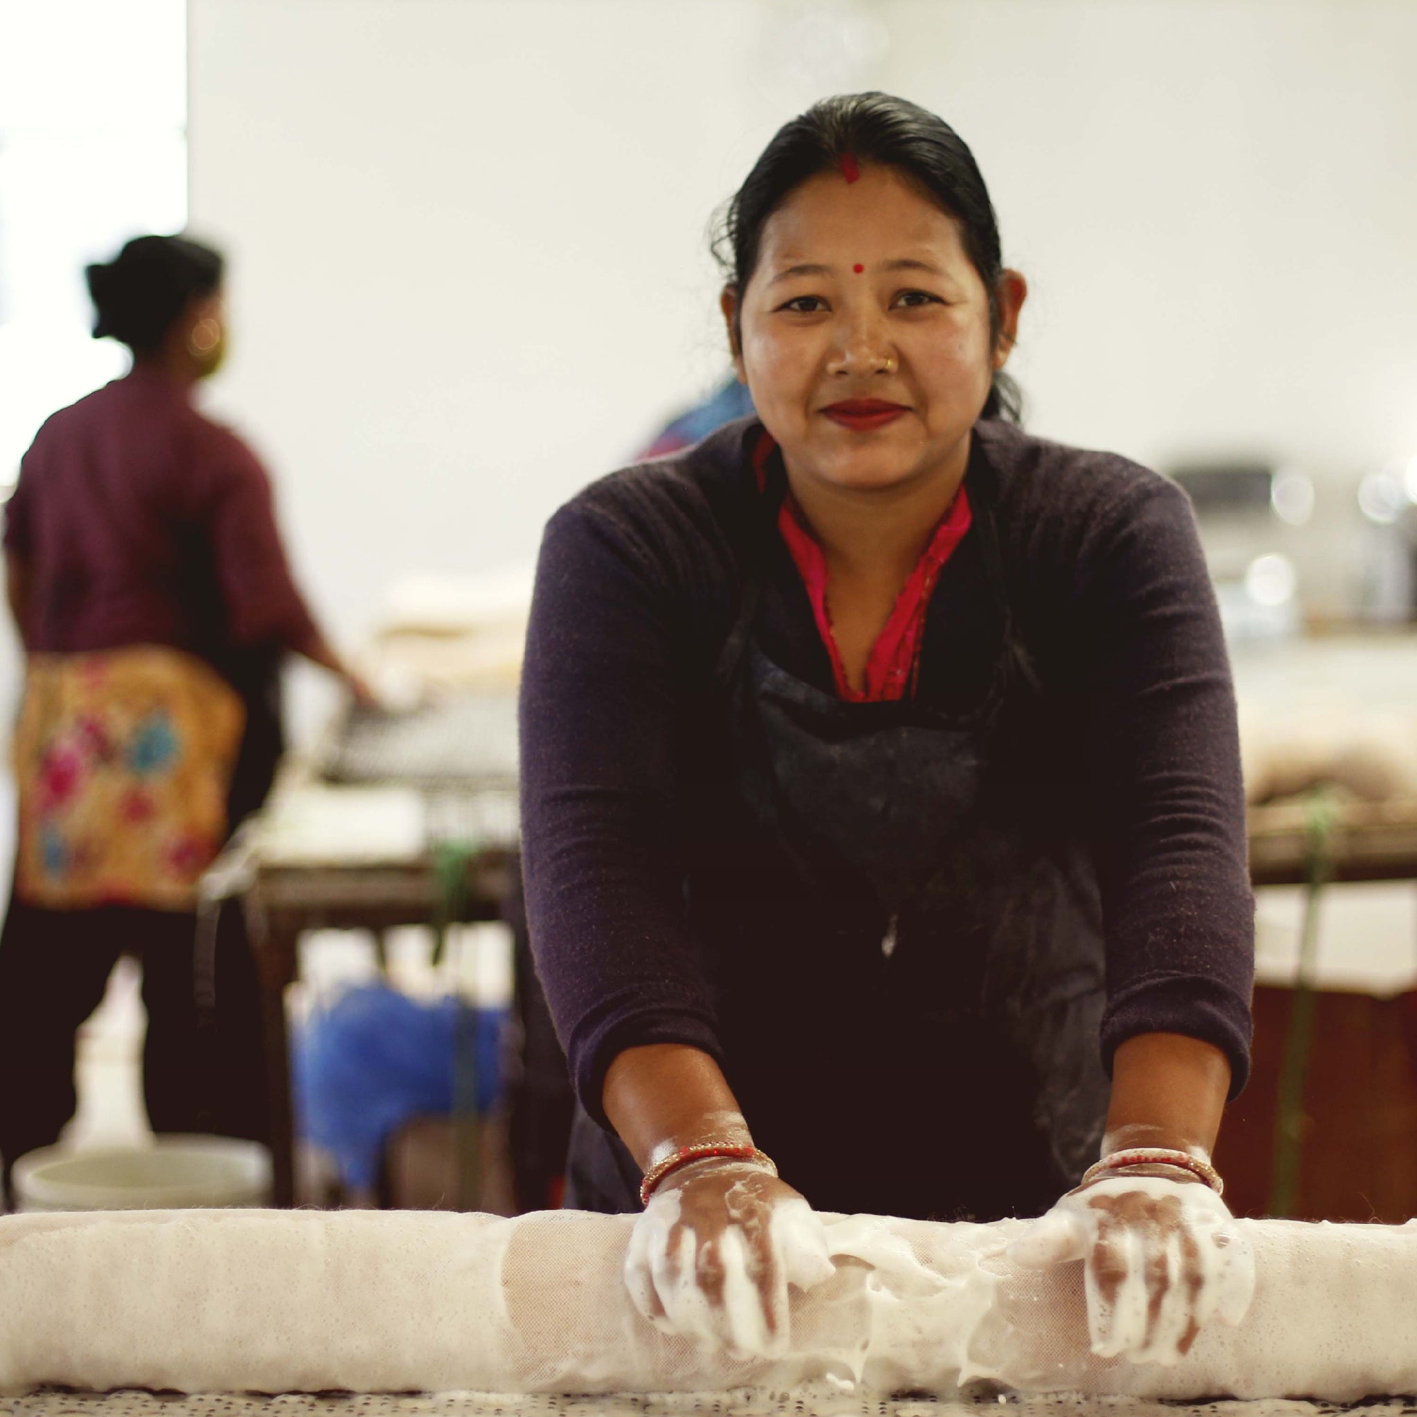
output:
[[[965,254],[989,292],[990,334],[998,339],[1003,258],[979,164],[942,118],[890,94],[825,98],[778,129],[730,200],[714,238],[714,256],[730,288],[740,295],[747,289],[772,213],[809,177],[839,167],[843,157],[893,167],[959,222]],[[995,374],[982,417],[1017,422],[1020,410],[1019,387],[1007,374]]]

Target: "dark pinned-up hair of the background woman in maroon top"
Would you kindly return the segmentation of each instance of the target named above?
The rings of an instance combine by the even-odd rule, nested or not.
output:
[[[188,300],[215,293],[224,266],[200,241],[135,237],[108,265],[84,271],[98,316],[94,339],[112,336],[135,354],[152,354]]]

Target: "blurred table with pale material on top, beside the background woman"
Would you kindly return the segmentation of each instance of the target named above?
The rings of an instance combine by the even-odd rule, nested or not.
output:
[[[239,897],[262,992],[275,1203],[293,1202],[285,990],[300,935],[506,918],[519,896],[516,701],[452,694],[401,714],[351,711],[208,873]]]

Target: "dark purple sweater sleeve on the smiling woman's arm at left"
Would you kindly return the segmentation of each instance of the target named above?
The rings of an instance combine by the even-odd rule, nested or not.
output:
[[[521,677],[527,922],[577,1097],[602,1125],[605,1071],[623,1049],[720,1057],[676,819],[684,619],[604,512],[581,502],[553,517]]]

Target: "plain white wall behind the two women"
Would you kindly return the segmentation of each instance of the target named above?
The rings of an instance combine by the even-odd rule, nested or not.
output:
[[[723,367],[711,208],[880,85],[981,159],[1033,428],[1348,497],[1417,453],[1414,54],[1379,0],[191,0],[215,402],[346,638],[404,571],[529,557]]]

